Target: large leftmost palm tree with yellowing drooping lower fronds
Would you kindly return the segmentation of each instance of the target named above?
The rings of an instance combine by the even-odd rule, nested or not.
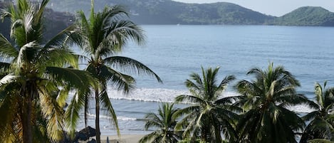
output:
[[[43,11],[48,0],[31,4],[18,0],[1,18],[11,18],[11,43],[0,34],[0,140],[47,142],[63,135],[63,105],[69,90],[84,88],[92,80],[80,70],[77,58],[64,46],[68,28],[42,43]]]

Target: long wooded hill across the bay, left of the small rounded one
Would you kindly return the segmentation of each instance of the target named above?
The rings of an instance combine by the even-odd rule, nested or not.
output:
[[[274,18],[226,2],[185,4],[171,0],[114,0],[110,3],[99,0],[95,1],[95,9],[114,4],[127,6],[132,20],[140,24],[265,24]],[[71,13],[84,9],[88,14],[90,1],[58,0],[51,2],[50,7]]]

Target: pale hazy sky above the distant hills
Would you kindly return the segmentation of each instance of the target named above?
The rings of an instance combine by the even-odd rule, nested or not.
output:
[[[225,1],[247,9],[259,11],[271,16],[282,16],[301,6],[321,6],[328,11],[334,12],[334,0],[174,0],[186,3],[212,3]]]

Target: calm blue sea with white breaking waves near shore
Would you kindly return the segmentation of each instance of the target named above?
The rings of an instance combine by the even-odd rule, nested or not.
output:
[[[328,87],[334,86],[333,27],[152,25],[142,28],[146,44],[129,43],[120,55],[144,63],[160,75],[163,83],[150,76],[135,75],[137,89],[129,95],[109,89],[121,134],[150,132],[144,131],[145,122],[141,119],[147,112],[156,112],[160,102],[172,102],[177,95],[187,94],[184,81],[189,74],[200,73],[201,66],[219,66],[220,80],[235,75],[238,81],[253,78],[246,75],[249,69],[265,69],[273,62],[295,75],[301,83],[298,92],[311,99],[315,82],[328,80]],[[236,95],[233,84],[223,96]],[[94,109],[91,110],[88,122],[94,127]],[[310,111],[303,105],[291,110]],[[100,117],[102,134],[116,134],[108,116]]]

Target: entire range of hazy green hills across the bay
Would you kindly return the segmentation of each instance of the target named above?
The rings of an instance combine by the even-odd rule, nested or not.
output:
[[[90,1],[50,1],[55,11],[83,9],[87,14]],[[232,24],[280,26],[334,26],[334,13],[321,7],[305,6],[280,17],[261,14],[242,6],[218,2],[212,4],[186,4],[171,0],[98,0],[96,9],[121,4],[131,12],[131,18],[140,24]]]

